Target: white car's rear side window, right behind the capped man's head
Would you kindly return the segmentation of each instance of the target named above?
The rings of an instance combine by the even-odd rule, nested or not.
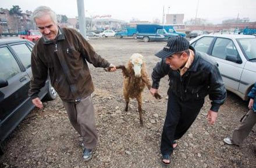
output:
[[[192,46],[194,47],[195,50],[199,52],[207,53],[213,39],[213,36],[204,36],[198,39],[198,41],[196,41],[195,43],[193,43]]]

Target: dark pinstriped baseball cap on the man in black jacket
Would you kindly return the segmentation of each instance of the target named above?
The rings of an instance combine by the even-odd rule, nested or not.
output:
[[[189,41],[183,36],[173,36],[168,39],[167,45],[155,56],[165,59],[166,57],[172,56],[172,54],[177,52],[182,52],[190,48]]]

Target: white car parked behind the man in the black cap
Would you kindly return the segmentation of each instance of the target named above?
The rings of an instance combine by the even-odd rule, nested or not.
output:
[[[253,35],[209,34],[190,41],[216,61],[226,89],[247,100],[256,82],[256,38]]]

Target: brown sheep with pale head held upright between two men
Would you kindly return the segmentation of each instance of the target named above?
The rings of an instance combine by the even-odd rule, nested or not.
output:
[[[151,83],[147,74],[145,60],[139,53],[134,53],[128,61],[127,68],[124,65],[119,65],[117,69],[122,69],[123,72],[123,96],[125,97],[126,107],[125,111],[128,111],[128,105],[130,98],[136,98],[138,101],[138,112],[140,115],[140,125],[143,126],[143,90],[145,86],[150,90]],[[106,69],[106,71],[108,71]],[[154,95],[155,98],[162,98],[159,94]]]

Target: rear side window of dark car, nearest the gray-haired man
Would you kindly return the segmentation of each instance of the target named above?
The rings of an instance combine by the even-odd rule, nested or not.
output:
[[[26,44],[19,44],[19,45],[13,45],[13,50],[15,50],[15,53],[17,56],[19,56],[20,60],[22,61],[24,67],[27,69],[31,66],[31,51],[27,47]]]

